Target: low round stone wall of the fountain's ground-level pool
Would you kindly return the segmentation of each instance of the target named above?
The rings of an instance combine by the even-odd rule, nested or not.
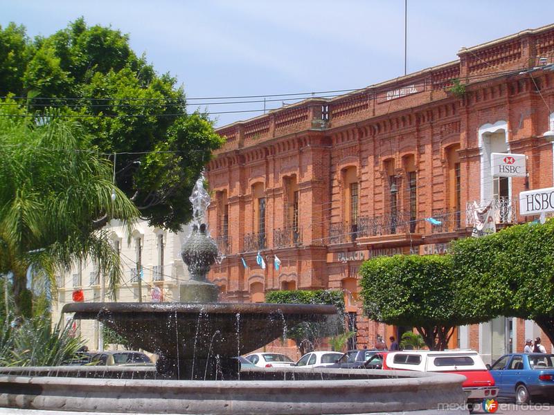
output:
[[[28,369],[0,372],[10,373],[0,374],[0,408],[38,410],[29,414],[468,413],[461,387],[465,377],[456,374],[293,367],[241,371],[241,379],[253,380],[190,381],[21,376]],[[274,380],[283,377],[291,380]]]

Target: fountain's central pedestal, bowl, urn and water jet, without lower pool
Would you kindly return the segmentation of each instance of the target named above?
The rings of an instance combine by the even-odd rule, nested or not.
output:
[[[190,281],[181,284],[181,302],[71,303],[62,310],[75,313],[75,319],[103,322],[133,349],[157,353],[159,374],[166,378],[204,379],[206,374],[209,379],[218,375],[236,378],[235,356],[279,338],[285,326],[321,321],[337,313],[334,306],[325,305],[217,302],[219,290],[206,278],[217,257],[217,245],[203,223],[210,204],[203,182],[201,176],[190,196],[193,232],[181,250]],[[175,317],[175,328],[168,324],[171,317]],[[220,336],[212,341],[216,331]],[[186,344],[190,339],[194,339],[193,347]],[[219,356],[219,362],[213,356]]]

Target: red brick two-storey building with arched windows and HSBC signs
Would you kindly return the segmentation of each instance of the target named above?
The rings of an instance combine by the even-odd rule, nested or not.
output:
[[[497,228],[526,220],[519,192],[553,186],[553,145],[543,137],[553,129],[552,64],[554,25],[220,128],[226,145],[207,169],[208,221],[227,256],[210,279],[233,302],[260,302],[278,289],[342,289],[359,347],[402,332],[364,319],[359,265],[443,252],[471,234],[474,202],[492,201]],[[449,91],[455,80],[458,93]],[[526,154],[528,178],[492,178],[491,152]],[[530,322],[501,317],[460,328],[452,345],[494,358],[539,334]]]

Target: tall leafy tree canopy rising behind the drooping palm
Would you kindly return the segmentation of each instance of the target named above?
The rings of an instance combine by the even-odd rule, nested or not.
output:
[[[206,114],[186,113],[175,77],[159,75],[119,30],[78,19],[49,37],[0,27],[0,94],[31,113],[57,107],[77,118],[91,145],[116,156],[118,187],[150,225],[179,230],[188,196],[222,138]],[[112,162],[114,157],[112,157]]]

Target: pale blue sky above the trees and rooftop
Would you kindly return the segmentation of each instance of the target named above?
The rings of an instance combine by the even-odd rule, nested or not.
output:
[[[177,76],[189,98],[358,89],[404,75],[404,0],[0,0],[0,10],[1,26],[24,24],[30,36],[80,16],[111,25],[157,71]],[[408,0],[408,72],[452,61],[462,46],[551,23],[554,1]],[[215,101],[190,100],[190,109],[263,108],[204,105]],[[213,118],[221,126],[259,114]]]

